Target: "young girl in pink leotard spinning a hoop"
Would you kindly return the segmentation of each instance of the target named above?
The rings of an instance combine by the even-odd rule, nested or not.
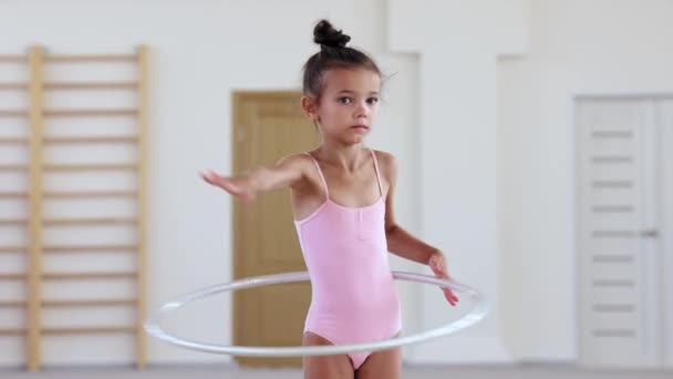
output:
[[[242,199],[290,187],[292,212],[310,273],[312,298],[303,345],[373,342],[402,327],[387,252],[427,264],[448,278],[444,255],[395,223],[395,158],[364,146],[376,120],[381,72],[350,37],[320,21],[320,52],[303,72],[301,107],[322,136],[314,150],[287,156],[272,168],[206,182]],[[451,291],[445,297],[458,301]],[[306,357],[304,378],[400,378],[401,349]]]

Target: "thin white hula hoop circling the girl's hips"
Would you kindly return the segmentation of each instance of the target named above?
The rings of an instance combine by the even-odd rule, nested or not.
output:
[[[271,284],[282,284],[282,283],[294,283],[294,281],[304,281],[309,280],[308,272],[299,272],[299,273],[288,273],[288,274],[279,274],[279,275],[267,275],[267,276],[258,276],[246,279],[240,279],[231,283],[218,284],[215,286],[210,286],[204,289],[198,289],[193,293],[185,294],[179,296],[172,301],[164,304],[161,308],[158,308],[154,315],[152,315],[145,321],[145,330],[163,340],[173,345],[177,345],[179,347],[184,347],[187,349],[193,349],[197,351],[204,352],[216,352],[224,354],[230,356],[241,356],[241,357],[302,357],[302,356],[329,356],[329,355],[342,355],[342,354],[351,354],[358,351],[376,351],[384,350],[390,348],[400,347],[403,345],[422,342],[432,338],[437,338],[446,335],[451,335],[460,329],[465,329],[469,326],[475,325],[479,320],[482,320],[487,311],[486,303],[482,295],[473,288],[469,288],[464,285],[459,285],[457,283],[453,283],[449,280],[444,280],[437,277],[421,275],[421,274],[412,274],[412,273],[401,273],[393,272],[393,277],[400,280],[407,281],[416,281],[423,284],[432,284],[439,286],[442,288],[451,288],[454,293],[467,295],[473,299],[473,308],[472,310],[463,316],[462,318],[443,325],[438,328],[431,329],[427,331],[418,332],[415,335],[406,336],[406,337],[394,337],[391,339],[377,341],[377,342],[367,342],[367,344],[353,344],[353,345],[331,345],[331,346],[297,346],[297,347],[258,347],[258,346],[232,346],[232,345],[214,345],[214,344],[203,344],[197,341],[191,341],[187,339],[183,339],[176,337],[174,335],[168,334],[161,327],[162,316],[167,315],[169,313],[175,311],[176,309],[183,307],[184,305],[203,299],[208,296],[213,296],[216,294],[225,293],[225,291],[234,291],[244,288],[252,288]]]

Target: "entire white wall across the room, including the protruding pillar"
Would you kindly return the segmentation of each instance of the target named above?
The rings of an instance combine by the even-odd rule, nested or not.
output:
[[[155,307],[230,278],[229,199],[196,174],[230,167],[230,91],[298,88],[312,24],[331,18],[398,72],[372,145],[402,164],[401,221],[491,305],[480,325],[410,347],[406,359],[563,361],[577,357],[572,95],[673,92],[672,13],[664,0],[13,0],[0,3],[0,53],[149,44]],[[451,315],[436,288],[405,288],[403,301],[410,329]],[[230,315],[204,307],[180,332],[227,342]],[[148,352],[152,362],[227,360],[154,340]]]

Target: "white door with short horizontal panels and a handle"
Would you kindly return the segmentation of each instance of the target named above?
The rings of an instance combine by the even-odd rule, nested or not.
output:
[[[663,129],[673,126],[665,103],[662,98],[576,103],[582,366],[663,365],[664,152],[673,148],[663,137]]]

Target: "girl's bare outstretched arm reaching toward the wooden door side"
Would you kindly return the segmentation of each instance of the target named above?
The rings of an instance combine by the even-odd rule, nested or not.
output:
[[[283,157],[273,167],[257,167],[240,176],[226,176],[213,171],[201,173],[207,183],[220,187],[244,201],[252,201],[258,193],[292,187],[306,177],[306,158],[301,154]]]

